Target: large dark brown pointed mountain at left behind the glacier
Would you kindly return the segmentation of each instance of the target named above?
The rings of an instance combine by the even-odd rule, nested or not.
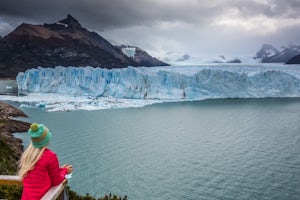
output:
[[[141,50],[142,51],[142,50]],[[55,66],[127,66],[167,65],[156,62],[147,53],[143,59],[130,58],[95,32],[83,28],[71,15],[53,24],[21,24],[0,39],[0,77],[15,78],[29,68]],[[155,62],[154,62],[155,60]]]

